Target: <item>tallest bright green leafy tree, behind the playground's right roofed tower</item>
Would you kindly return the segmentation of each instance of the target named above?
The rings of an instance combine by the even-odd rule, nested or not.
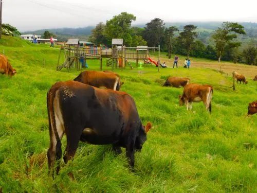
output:
[[[113,38],[122,38],[124,44],[130,46],[132,44],[131,23],[136,21],[136,16],[127,12],[115,15],[112,20],[106,21],[104,35],[108,41]]]

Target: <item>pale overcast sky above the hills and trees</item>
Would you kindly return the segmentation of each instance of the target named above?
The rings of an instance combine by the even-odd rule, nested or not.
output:
[[[105,23],[106,20],[124,11],[137,17],[133,24],[147,23],[155,17],[164,22],[257,23],[256,0],[3,0],[3,2],[3,23],[9,23],[20,31],[86,27],[99,22]]]

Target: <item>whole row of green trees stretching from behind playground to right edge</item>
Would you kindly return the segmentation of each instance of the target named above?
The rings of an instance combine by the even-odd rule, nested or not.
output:
[[[234,63],[247,63],[257,65],[256,42],[250,43],[245,49],[239,49],[242,42],[238,42],[237,34],[246,34],[244,26],[236,22],[223,22],[212,34],[210,41],[204,44],[197,39],[197,26],[186,25],[183,30],[176,26],[165,27],[163,20],[155,18],[145,27],[132,27],[136,21],[133,14],[122,12],[115,15],[106,23],[99,23],[91,31],[90,42],[96,45],[105,44],[111,46],[113,38],[122,38],[124,45],[137,46],[148,45],[166,51],[171,58],[172,54],[179,54],[199,58],[233,61]]]

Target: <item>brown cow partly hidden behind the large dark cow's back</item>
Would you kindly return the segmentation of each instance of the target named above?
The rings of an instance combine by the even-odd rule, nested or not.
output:
[[[113,72],[84,71],[74,80],[95,87],[106,87],[106,89],[113,89],[114,91],[119,91],[123,84],[123,82],[120,83],[120,76]]]

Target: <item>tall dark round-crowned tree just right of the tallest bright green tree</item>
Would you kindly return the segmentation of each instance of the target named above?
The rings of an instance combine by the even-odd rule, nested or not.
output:
[[[149,46],[156,47],[160,44],[161,39],[164,37],[164,25],[163,20],[155,18],[151,22],[146,24],[143,31],[143,38],[148,42]]]

